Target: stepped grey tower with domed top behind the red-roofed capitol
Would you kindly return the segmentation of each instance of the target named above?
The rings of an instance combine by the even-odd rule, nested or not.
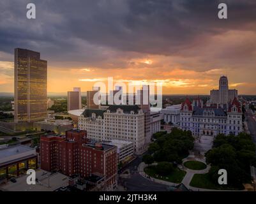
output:
[[[219,89],[211,90],[210,102],[220,105],[227,105],[227,103],[233,101],[234,98],[237,98],[237,90],[229,89],[229,81],[227,80],[227,77],[220,77]]]

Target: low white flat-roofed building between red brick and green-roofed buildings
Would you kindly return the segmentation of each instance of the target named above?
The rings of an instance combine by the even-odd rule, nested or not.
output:
[[[117,147],[117,163],[126,163],[133,157],[133,142],[124,140],[103,140],[102,143]]]

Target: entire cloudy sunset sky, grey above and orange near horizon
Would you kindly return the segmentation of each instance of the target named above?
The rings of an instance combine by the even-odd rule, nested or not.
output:
[[[218,19],[219,3],[228,19]],[[13,92],[16,47],[48,61],[49,92],[113,77],[208,94],[227,75],[230,88],[256,94],[255,0],[1,0],[0,92]]]

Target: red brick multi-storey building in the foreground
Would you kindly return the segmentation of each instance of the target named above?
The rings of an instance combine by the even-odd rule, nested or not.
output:
[[[66,135],[41,136],[41,169],[79,174],[89,186],[94,182],[98,190],[112,190],[117,187],[117,147],[93,142],[86,135],[72,129]]]

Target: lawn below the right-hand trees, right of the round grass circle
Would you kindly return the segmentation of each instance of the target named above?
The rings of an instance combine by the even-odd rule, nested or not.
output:
[[[190,182],[190,186],[200,187],[203,189],[216,189],[216,190],[243,190],[243,189],[245,189],[243,187],[243,185],[241,185],[240,187],[232,187],[232,186],[227,186],[227,185],[215,184],[209,179],[208,173],[195,174]]]

